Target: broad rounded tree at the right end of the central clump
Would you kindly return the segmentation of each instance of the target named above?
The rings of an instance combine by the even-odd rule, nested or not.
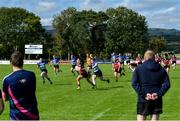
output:
[[[138,53],[148,46],[144,16],[125,7],[109,8],[106,14],[109,16],[106,52]]]

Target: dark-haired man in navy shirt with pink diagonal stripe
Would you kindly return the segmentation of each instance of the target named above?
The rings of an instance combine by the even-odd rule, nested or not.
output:
[[[10,120],[39,120],[36,100],[36,77],[23,70],[23,55],[11,55],[13,72],[3,80],[3,99],[10,103]]]

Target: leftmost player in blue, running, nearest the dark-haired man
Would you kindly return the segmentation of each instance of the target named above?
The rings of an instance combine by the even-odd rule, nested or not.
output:
[[[40,62],[37,63],[38,68],[41,70],[41,77],[43,79],[43,84],[45,84],[45,78],[49,81],[50,84],[53,84],[49,76],[47,75],[46,62],[43,62],[42,58],[40,58]]]

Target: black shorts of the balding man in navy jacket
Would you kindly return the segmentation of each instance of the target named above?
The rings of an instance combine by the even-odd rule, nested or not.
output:
[[[162,113],[162,101],[138,102],[137,114],[147,116]]]

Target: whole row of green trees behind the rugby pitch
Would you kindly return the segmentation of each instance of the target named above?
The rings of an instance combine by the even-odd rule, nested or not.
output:
[[[146,18],[126,7],[106,11],[69,7],[54,16],[55,34],[48,34],[40,17],[22,8],[0,8],[0,54],[9,58],[14,50],[24,53],[25,44],[43,44],[46,57],[70,57],[92,53],[108,58],[110,53],[156,52],[166,47],[163,38],[148,38]],[[47,56],[49,55],[49,56]]]

